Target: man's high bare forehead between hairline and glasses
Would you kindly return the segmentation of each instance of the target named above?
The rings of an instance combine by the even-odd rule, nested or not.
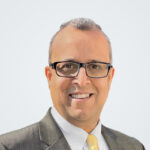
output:
[[[51,62],[73,59],[80,62],[109,62],[110,45],[103,32],[79,30],[68,26],[55,37],[51,46]]]

